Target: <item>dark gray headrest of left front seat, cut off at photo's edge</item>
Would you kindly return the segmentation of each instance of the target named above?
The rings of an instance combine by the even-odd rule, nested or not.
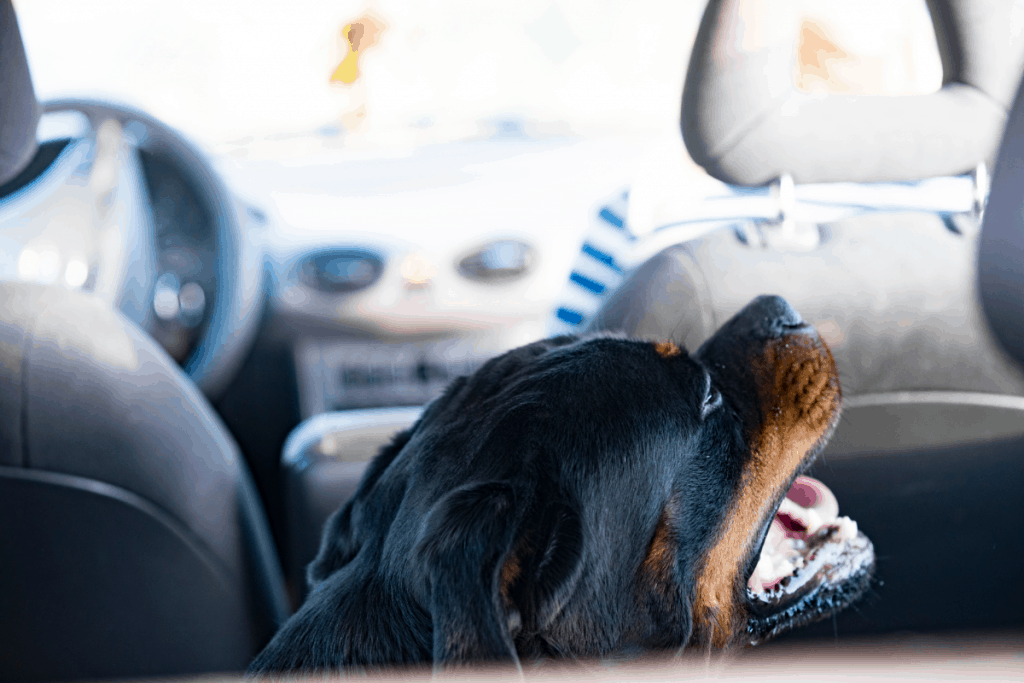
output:
[[[0,0],[0,185],[32,161],[40,108],[10,0]]]

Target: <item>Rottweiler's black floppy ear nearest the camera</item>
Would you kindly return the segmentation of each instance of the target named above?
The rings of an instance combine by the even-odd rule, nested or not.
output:
[[[416,556],[429,593],[435,667],[474,660],[518,665],[500,592],[517,524],[515,492],[496,481],[454,490],[427,516]]]

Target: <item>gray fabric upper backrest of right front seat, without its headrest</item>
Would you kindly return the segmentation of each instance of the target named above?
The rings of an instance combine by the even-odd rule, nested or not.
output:
[[[846,396],[1024,395],[1024,373],[985,323],[973,223],[962,221],[957,234],[930,214],[859,216],[827,225],[813,252],[764,249],[718,230],[632,272],[589,329],[695,350],[753,297],[778,294],[830,342]]]

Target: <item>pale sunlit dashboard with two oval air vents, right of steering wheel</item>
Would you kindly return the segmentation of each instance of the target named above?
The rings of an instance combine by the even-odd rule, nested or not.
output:
[[[301,417],[423,404],[548,334],[584,233],[641,152],[489,138],[222,165],[266,187],[264,337],[289,349]]]

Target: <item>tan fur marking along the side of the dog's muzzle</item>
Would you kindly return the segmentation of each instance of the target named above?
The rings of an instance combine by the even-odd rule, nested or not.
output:
[[[797,469],[828,432],[841,401],[831,353],[814,338],[792,335],[771,342],[753,368],[763,421],[696,579],[694,624],[715,647],[728,645],[742,628],[741,565]]]

